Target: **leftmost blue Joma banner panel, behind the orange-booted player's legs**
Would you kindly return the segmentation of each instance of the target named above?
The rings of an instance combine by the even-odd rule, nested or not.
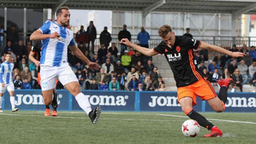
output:
[[[15,105],[21,110],[43,110],[45,105],[43,102],[43,97],[41,90],[15,90]],[[58,109],[67,110],[68,109],[68,92],[66,90],[58,90]],[[50,106],[51,107],[51,106]],[[10,95],[6,91],[4,93],[4,109],[12,109],[10,104]]]

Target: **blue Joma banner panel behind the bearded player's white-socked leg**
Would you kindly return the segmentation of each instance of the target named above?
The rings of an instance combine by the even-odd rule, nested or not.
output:
[[[135,92],[83,90],[82,93],[88,96],[89,102],[93,107],[100,105],[103,110],[111,111],[135,110]],[[72,98],[72,109],[81,110],[74,97]]]

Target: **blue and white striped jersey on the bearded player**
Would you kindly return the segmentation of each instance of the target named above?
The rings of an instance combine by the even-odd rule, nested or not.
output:
[[[42,40],[42,51],[40,65],[61,66],[61,63],[67,62],[67,46],[75,45],[74,35],[70,29],[62,27],[57,22],[47,20],[40,28],[42,34],[51,34],[57,32],[60,39],[47,38]]]

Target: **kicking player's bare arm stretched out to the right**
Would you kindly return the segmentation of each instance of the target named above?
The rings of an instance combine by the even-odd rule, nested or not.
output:
[[[226,49],[223,49],[222,47],[218,47],[216,45],[210,45],[205,42],[201,42],[200,48],[220,52],[220,53],[226,54],[226,55],[234,57],[234,58],[246,56],[246,54],[244,54],[244,53],[228,51]]]

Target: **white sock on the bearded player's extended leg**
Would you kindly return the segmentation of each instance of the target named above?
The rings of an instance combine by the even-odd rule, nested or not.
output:
[[[88,97],[86,97],[83,93],[79,93],[75,96],[75,98],[81,109],[83,109],[87,115],[89,115],[90,111],[92,111],[92,108]]]

